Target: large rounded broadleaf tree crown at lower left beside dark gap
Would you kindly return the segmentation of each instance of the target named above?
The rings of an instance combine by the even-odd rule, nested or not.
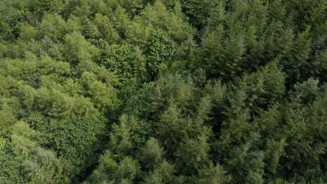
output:
[[[68,172],[68,176],[75,176],[96,162],[91,157],[100,147],[103,130],[103,123],[91,118],[78,117],[57,122],[52,133],[52,148],[67,160],[64,171]]]

